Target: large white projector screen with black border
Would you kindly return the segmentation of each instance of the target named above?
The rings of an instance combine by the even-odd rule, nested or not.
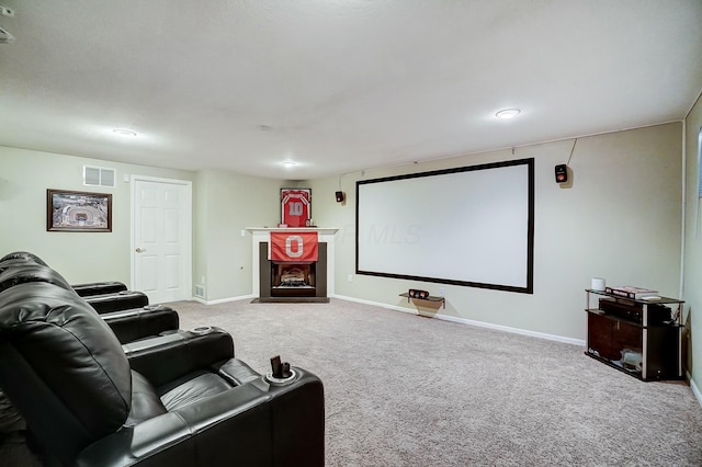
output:
[[[534,159],[356,182],[356,274],[533,293]]]

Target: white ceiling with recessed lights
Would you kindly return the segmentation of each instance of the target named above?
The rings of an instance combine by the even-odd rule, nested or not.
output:
[[[700,0],[0,4],[0,145],[146,166],[317,179],[679,121],[702,89]]]

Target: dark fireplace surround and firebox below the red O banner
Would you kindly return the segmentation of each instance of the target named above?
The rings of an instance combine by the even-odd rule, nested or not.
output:
[[[268,242],[259,243],[259,301],[327,303],[327,243],[318,243],[312,263],[275,262],[268,259]]]

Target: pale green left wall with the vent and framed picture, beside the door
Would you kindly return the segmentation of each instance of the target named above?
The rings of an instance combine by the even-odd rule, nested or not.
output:
[[[83,186],[83,166],[116,170],[116,186]],[[124,175],[192,181],[194,172],[107,162],[0,146],[0,257],[19,250],[39,255],[76,284],[129,284],[131,185]],[[47,232],[46,190],[111,193],[112,232]]]

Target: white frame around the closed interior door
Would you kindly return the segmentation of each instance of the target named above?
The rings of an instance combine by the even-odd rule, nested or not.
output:
[[[186,231],[186,238],[183,239],[183,258],[185,258],[185,263],[184,267],[185,267],[185,283],[189,285],[190,288],[190,293],[188,294],[186,297],[183,297],[183,299],[188,299],[188,300],[192,300],[192,288],[193,288],[193,242],[192,242],[192,236],[193,236],[193,216],[192,216],[192,212],[193,212],[193,182],[189,181],[189,180],[177,180],[177,179],[163,179],[163,178],[158,178],[158,176],[148,176],[148,175],[135,175],[132,174],[132,176],[129,178],[129,184],[132,185],[132,202],[131,204],[131,213],[129,213],[129,220],[131,220],[131,228],[129,228],[129,263],[131,263],[131,289],[134,289],[134,284],[135,284],[135,271],[136,271],[136,261],[135,261],[135,250],[136,250],[136,242],[135,242],[135,238],[136,238],[136,229],[135,229],[135,216],[136,216],[136,182],[137,181],[144,181],[144,182],[155,182],[155,183],[168,183],[171,185],[181,185],[185,187],[185,195],[186,195],[186,203],[188,203],[188,208],[185,209],[185,223],[188,223],[188,228],[185,229]]]

